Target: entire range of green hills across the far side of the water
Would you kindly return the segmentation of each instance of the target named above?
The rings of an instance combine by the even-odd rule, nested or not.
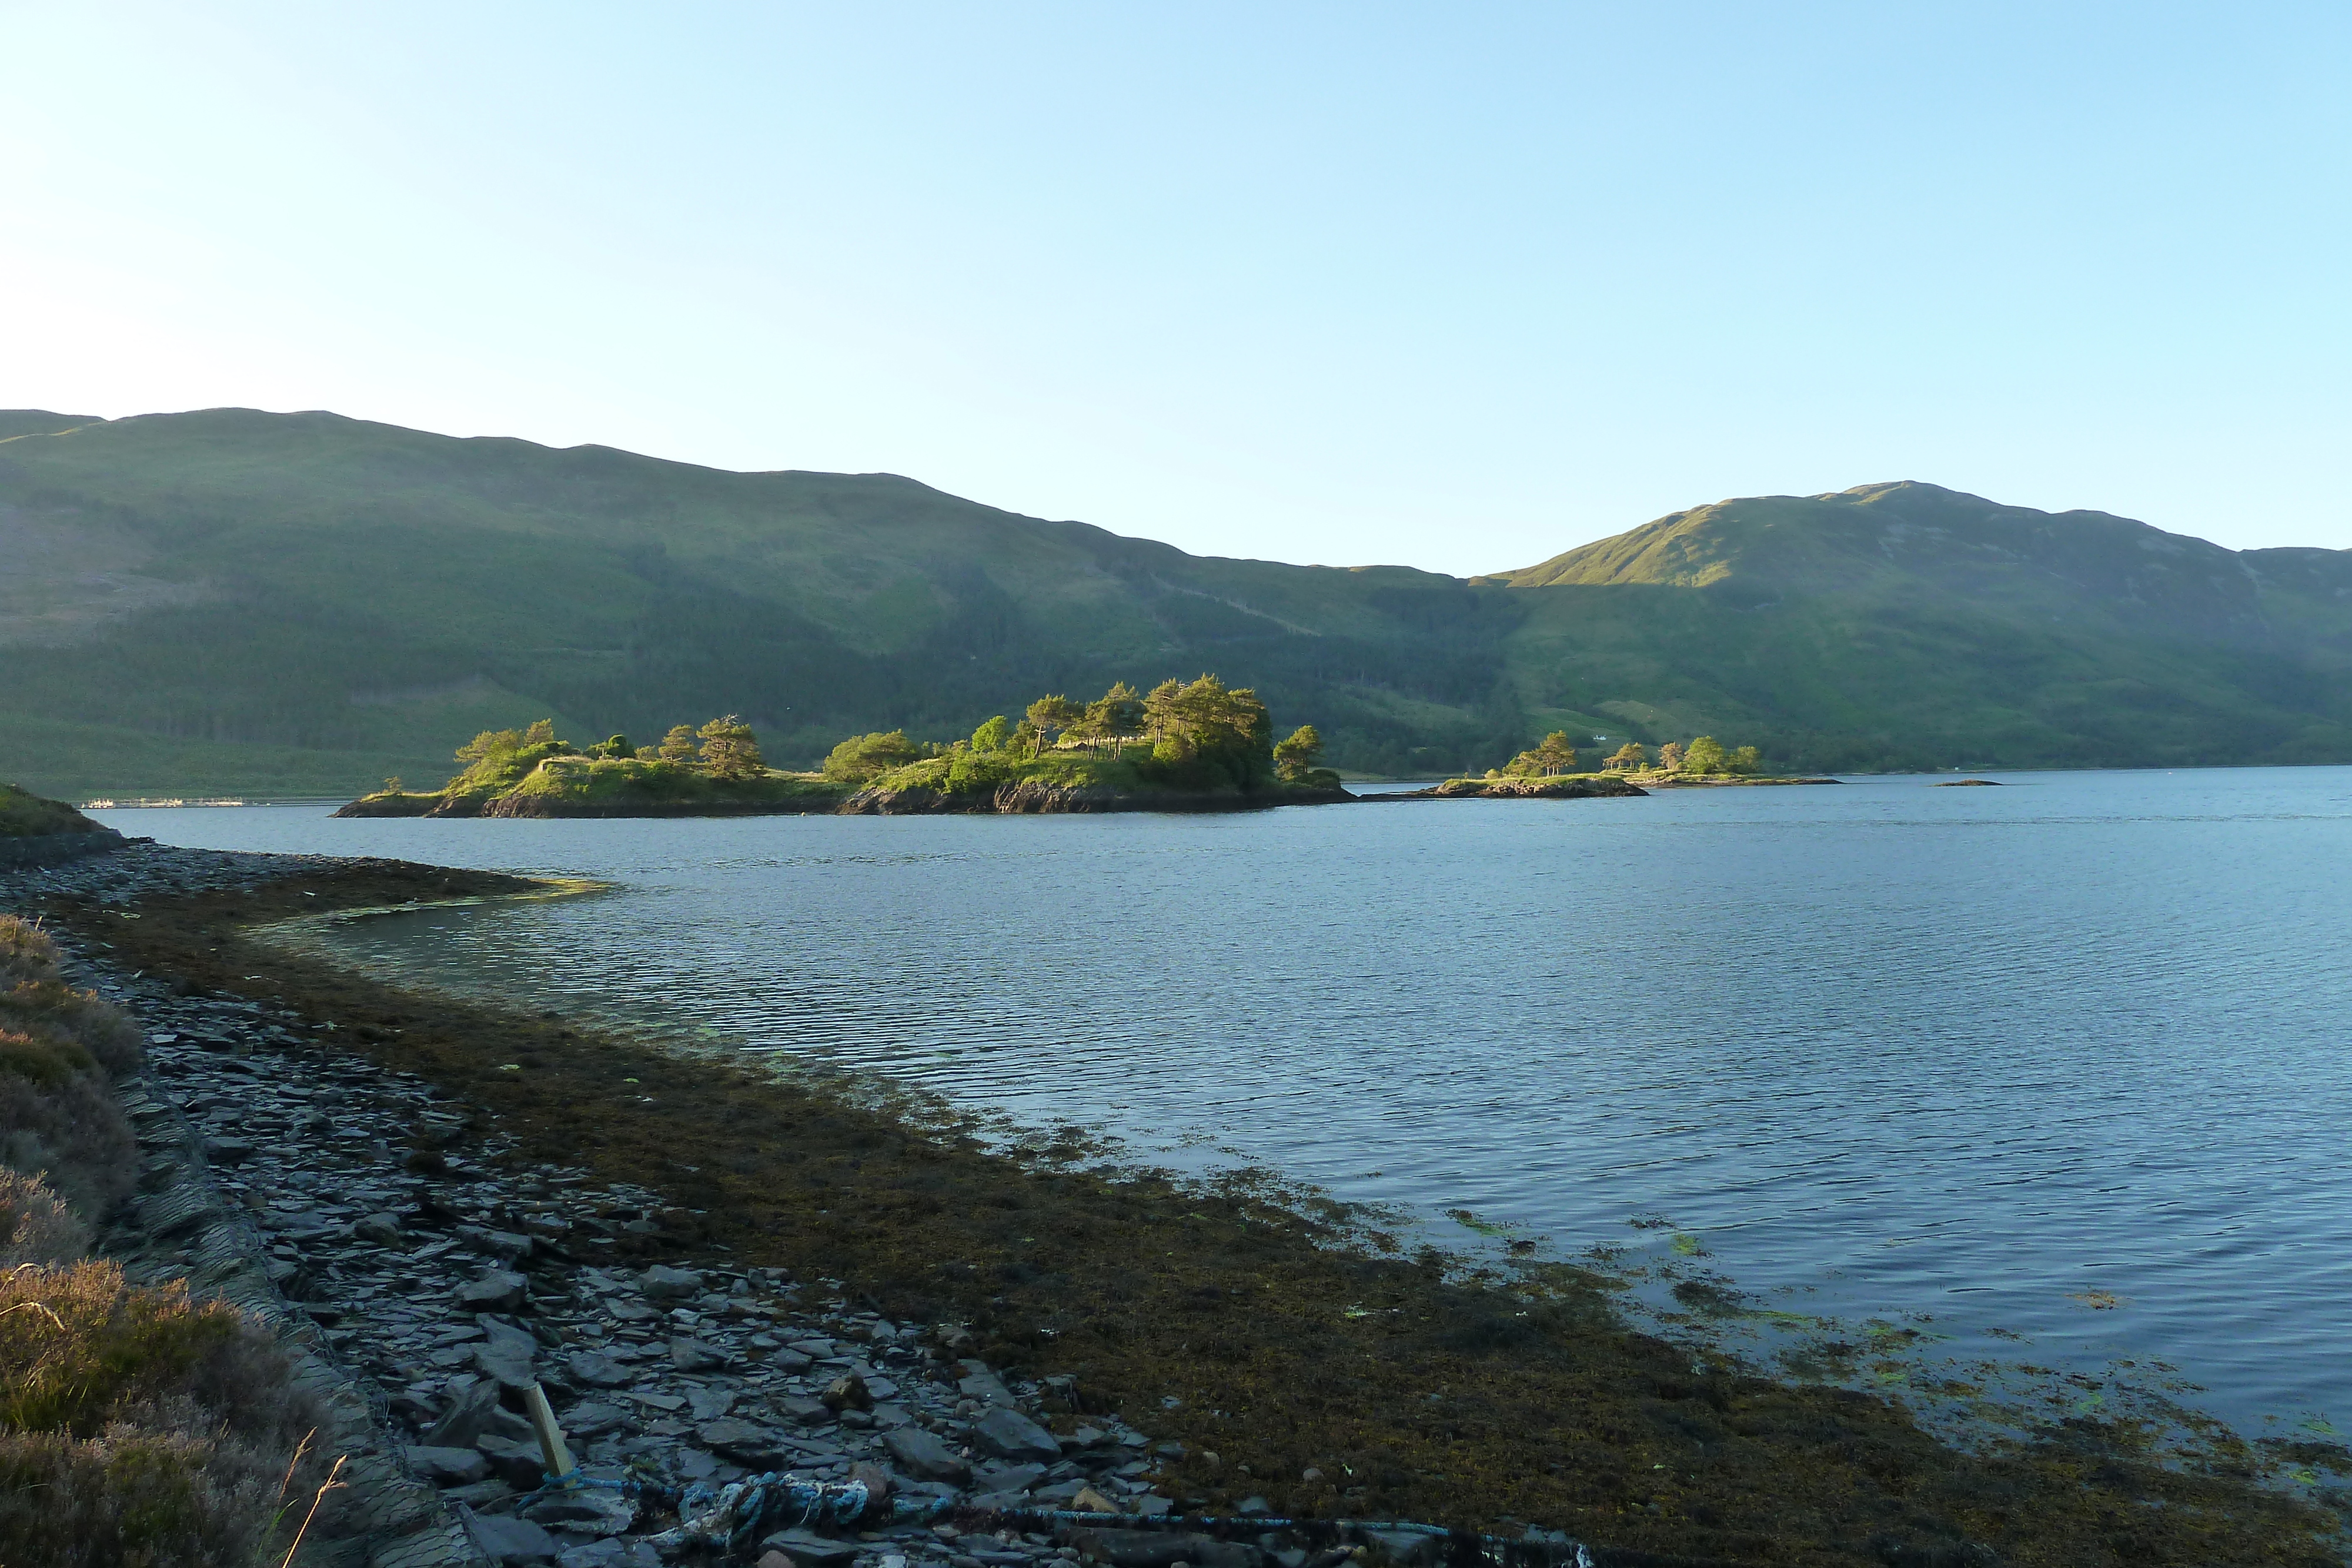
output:
[[[353,790],[550,710],[659,733],[739,708],[809,766],[1200,668],[1367,773],[1548,731],[1809,771],[2352,759],[2352,555],[1929,484],[1724,501],[1458,581],[1190,557],[891,475],[0,414],[0,757],[54,795]]]

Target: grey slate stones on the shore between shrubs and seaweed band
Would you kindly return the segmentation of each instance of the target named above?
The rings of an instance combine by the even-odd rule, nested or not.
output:
[[[139,919],[153,893],[336,865],[141,846],[5,875],[0,905]],[[306,1563],[1336,1568],[1444,1542],[1294,1530],[1254,1519],[1263,1500],[1183,1526],[1162,1472],[1185,1446],[1080,1415],[1070,1378],[1004,1378],[962,1324],[891,1321],[837,1279],[666,1258],[661,1194],[513,1159],[487,1117],[343,1048],[334,1020],[125,976],[103,943],[68,952],[148,1039],[118,1084],[139,1197],[103,1251],[273,1324],[334,1413],[348,1495]],[[534,1392],[572,1483],[550,1483]],[[762,1497],[793,1507],[746,1535]],[[1566,1537],[1531,1542],[1573,1561]]]

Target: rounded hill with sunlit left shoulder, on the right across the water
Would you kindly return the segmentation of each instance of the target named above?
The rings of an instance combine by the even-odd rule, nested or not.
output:
[[[2352,759],[2352,555],[1933,484],[1762,496],[1484,578],[1531,719],[1799,769]],[[1644,733],[1646,731],[1646,733]]]

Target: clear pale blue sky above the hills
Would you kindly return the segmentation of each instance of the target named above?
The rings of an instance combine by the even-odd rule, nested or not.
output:
[[[0,407],[1491,571],[1933,480],[2352,545],[2345,5],[14,5]]]

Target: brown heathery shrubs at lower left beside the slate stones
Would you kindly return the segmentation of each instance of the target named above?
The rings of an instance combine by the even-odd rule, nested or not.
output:
[[[139,1030],[0,914],[0,1561],[247,1568],[285,1549],[315,1425],[270,1335],[85,1258],[139,1175]],[[299,1519],[296,1519],[299,1523]]]

